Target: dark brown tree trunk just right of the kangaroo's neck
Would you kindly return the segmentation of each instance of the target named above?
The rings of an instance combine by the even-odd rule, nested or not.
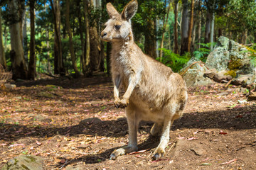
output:
[[[154,20],[146,21],[144,50],[149,57],[156,58],[156,22]]]

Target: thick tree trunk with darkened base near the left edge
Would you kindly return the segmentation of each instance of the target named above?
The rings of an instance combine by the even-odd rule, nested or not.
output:
[[[9,1],[9,10],[14,18],[20,18],[18,16],[18,5],[15,0]],[[21,20],[10,25],[11,33],[11,68],[13,72],[12,79],[27,79],[28,70],[23,53],[23,47],[21,42]]]

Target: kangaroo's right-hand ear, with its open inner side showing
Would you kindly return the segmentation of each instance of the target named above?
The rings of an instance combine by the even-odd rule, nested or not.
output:
[[[137,12],[137,8],[137,0],[129,1],[129,3],[126,6],[124,6],[124,10],[121,13],[122,19],[129,21],[129,19],[131,19]]]

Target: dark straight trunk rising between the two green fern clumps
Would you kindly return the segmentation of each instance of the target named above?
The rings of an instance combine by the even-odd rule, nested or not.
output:
[[[188,0],[182,1],[181,55],[188,52]]]

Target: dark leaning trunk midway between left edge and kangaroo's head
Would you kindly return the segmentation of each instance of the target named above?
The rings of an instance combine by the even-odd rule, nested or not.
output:
[[[54,73],[65,75],[60,38],[60,0],[50,0],[54,21]]]

